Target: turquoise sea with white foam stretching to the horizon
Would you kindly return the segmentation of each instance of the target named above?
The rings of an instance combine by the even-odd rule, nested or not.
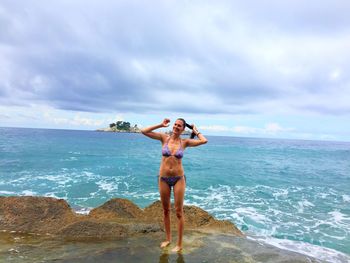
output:
[[[210,137],[183,159],[186,204],[249,238],[316,258],[350,255],[350,143]],[[0,195],[159,199],[160,143],[141,134],[0,128]],[[350,258],[350,257],[349,257]]]

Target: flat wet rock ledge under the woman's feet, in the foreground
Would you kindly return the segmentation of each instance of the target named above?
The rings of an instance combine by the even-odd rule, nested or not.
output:
[[[173,234],[176,234],[173,232]],[[319,260],[226,234],[185,231],[184,248],[159,248],[164,233],[123,239],[67,240],[6,233],[0,237],[0,261],[11,262],[320,262]],[[17,261],[16,261],[17,260]],[[171,261],[173,262],[173,261]]]

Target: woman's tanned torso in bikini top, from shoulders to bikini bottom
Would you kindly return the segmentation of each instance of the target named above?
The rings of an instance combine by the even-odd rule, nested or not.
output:
[[[184,141],[181,138],[172,140],[170,137],[162,145],[162,162],[160,164],[160,176],[183,176],[182,156]]]

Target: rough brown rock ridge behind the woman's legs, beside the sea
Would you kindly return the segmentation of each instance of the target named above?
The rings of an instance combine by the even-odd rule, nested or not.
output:
[[[243,236],[234,224],[213,218],[206,211],[184,207],[186,230]],[[173,227],[176,224],[172,208]],[[124,238],[162,231],[162,207],[156,201],[145,209],[115,198],[88,215],[76,214],[63,199],[51,197],[0,197],[0,230],[51,234],[65,238]]]

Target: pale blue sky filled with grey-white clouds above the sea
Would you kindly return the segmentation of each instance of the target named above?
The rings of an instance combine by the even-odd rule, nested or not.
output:
[[[2,0],[0,127],[182,117],[350,141],[350,2]]]

